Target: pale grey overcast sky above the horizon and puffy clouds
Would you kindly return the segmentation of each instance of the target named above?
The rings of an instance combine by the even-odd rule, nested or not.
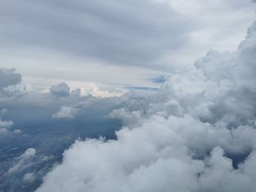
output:
[[[0,66],[34,88],[155,88],[208,50],[236,50],[255,20],[251,0],[0,2]]]

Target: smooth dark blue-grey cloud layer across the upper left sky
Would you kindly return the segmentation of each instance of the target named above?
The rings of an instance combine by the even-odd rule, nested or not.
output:
[[[111,64],[151,65],[187,42],[189,23],[156,1],[6,1],[1,39]]]

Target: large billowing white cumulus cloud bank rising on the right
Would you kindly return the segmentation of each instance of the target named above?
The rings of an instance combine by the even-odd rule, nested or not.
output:
[[[45,191],[255,191],[256,23],[234,53],[211,50],[110,117],[116,140],[75,142]]]

